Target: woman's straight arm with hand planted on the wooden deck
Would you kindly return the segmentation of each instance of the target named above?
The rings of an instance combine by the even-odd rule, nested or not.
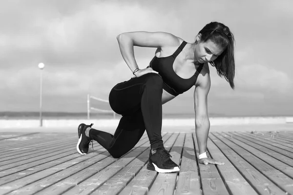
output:
[[[199,154],[207,152],[207,142],[209,135],[209,116],[208,116],[208,94],[210,89],[210,77],[209,73],[205,73],[197,84],[194,90],[194,110],[195,110],[195,133],[199,148]],[[212,158],[205,157],[199,160],[202,164],[218,164],[224,163],[218,162]]]

